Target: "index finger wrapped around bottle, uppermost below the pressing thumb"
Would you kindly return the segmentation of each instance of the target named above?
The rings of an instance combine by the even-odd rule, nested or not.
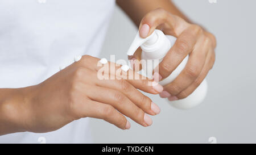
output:
[[[196,26],[197,27],[197,26]],[[200,27],[188,28],[184,30],[163,58],[163,61],[157,66],[159,69],[159,78],[166,78],[177,68],[183,59],[192,52],[197,39],[203,33]]]

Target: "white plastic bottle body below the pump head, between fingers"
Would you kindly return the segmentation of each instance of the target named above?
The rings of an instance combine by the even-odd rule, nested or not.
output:
[[[166,53],[169,51],[169,49],[174,45],[176,38],[174,36],[166,35],[167,39],[169,40],[170,44],[165,44],[164,47],[166,50]],[[164,54],[163,57],[157,58],[152,60],[151,58],[147,57],[148,52],[143,51],[142,47],[142,60],[146,60],[146,63],[142,63],[142,74],[145,74],[148,78],[152,77],[152,72],[155,69],[156,66],[163,60],[163,57],[166,55]],[[174,81],[174,79],[179,76],[180,72],[184,69],[185,65],[187,64],[188,56],[184,58],[184,60],[180,63],[179,66],[172,72],[170,76],[160,81],[160,85],[164,86],[168,83]],[[204,79],[203,82],[197,87],[195,91],[193,91],[192,94],[190,94],[187,98],[180,99],[180,100],[174,100],[168,102],[171,104],[171,106],[174,106],[179,109],[188,109],[193,108],[203,102],[206,94],[207,94],[207,81]]]

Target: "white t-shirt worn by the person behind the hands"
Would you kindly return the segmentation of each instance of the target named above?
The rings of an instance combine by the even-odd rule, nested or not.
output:
[[[75,56],[97,56],[114,4],[114,0],[1,0],[0,88],[36,85]],[[88,118],[53,132],[3,135],[0,143],[44,139],[46,143],[90,143]]]

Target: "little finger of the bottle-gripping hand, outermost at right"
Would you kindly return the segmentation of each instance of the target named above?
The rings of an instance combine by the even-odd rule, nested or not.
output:
[[[196,90],[196,88],[201,84],[201,82],[203,82],[204,78],[207,76],[209,70],[212,68],[214,64],[214,61],[215,61],[215,54],[214,54],[214,51],[211,50],[211,52],[209,52],[209,54],[207,55],[204,68],[201,71],[199,77],[197,77],[196,80],[189,87],[187,87],[187,89],[177,94],[176,97],[178,99],[183,99],[188,97],[188,95],[190,95],[191,93],[193,93],[193,91]]]

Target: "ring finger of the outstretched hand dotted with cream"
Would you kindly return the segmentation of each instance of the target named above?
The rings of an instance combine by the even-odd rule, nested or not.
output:
[[[117,90],[94,86],[90,88],[90,91],[87,92],[86,95],[88,95],[90,99],[96,100],[97,102],[110,104],[119,112],[131,118],[138,124],[143,125],[144,127],[152,124],[151,118],[145,114],[141,108],[137,107],[129,98]]]

